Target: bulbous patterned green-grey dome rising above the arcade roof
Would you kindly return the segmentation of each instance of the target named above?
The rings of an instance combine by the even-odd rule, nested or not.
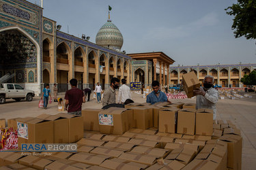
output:
[[[123,43],[122,33],[111,21],[106,22],[96,35],[96,44],[106,48],[121,50]]]

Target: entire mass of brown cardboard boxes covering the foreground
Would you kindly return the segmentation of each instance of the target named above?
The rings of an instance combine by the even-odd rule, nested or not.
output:
[[[43,114],[14,119],[18,128],[29,129],[27,139],[19,137],[19,143],[80,139],[77,152],[51,156],[0,152],[0,165],[9,169],[241,169],[240,131],[230,121],[213,122],[212,110],[196,110],[193,103],[126,107],[84,109],[81,117]]]

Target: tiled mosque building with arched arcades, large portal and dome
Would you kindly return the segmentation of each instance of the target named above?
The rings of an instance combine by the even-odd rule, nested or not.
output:
[[[59,92],[70,88],[76,78],[78,87],[91,88],[97,82],[106,89],[113,77],[127,83],[152,80],[160,84],[180,83],[182,73],[190,67],[170,67],[175,61],[164,52],[126,54],[124,38],[110,17],[96,35],[75,37],[61,31],[61,25],[42,15],[43,8],[25,0],[0,0],[0,82],[18,83],[39,95],[44,84],[57,84]],[[217,84],[234,84],[255,65],[193,67],[200,80],[212,73]],[[233,72],[232,72],[233,71]],[[216,75],[215,75],[216,73]],[[225,73],[225,74],[223,74]],[[236,73],[233,75],[232,73]],[[238,73],[238,75],[237,75]],[[225,75],[225,76],[224,76]],[[224,76],[224,77],[223,77]],[[235,76],[235,77],[233,77]]]

